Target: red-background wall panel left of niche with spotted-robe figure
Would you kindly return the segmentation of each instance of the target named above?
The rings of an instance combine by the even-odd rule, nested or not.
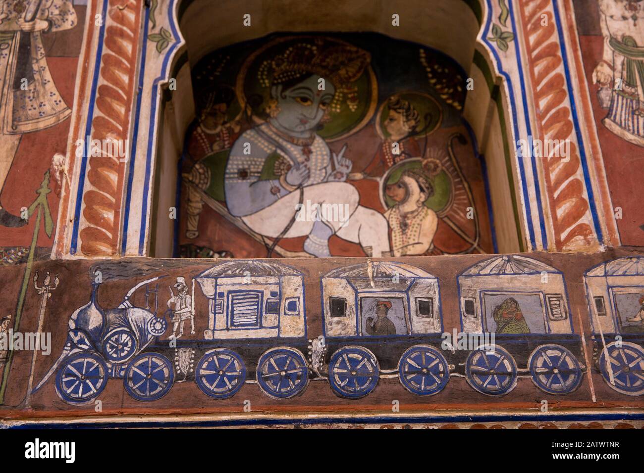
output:
[[[62,184],[69,179],[64,163],[68,118],[82,42],[78,23],[85,9],[71,0],[0,2],[3,265],[26,261],[30,254],[41,257],[53,244]],[[39,228],[32,204],[43,195],[46,222]]]

